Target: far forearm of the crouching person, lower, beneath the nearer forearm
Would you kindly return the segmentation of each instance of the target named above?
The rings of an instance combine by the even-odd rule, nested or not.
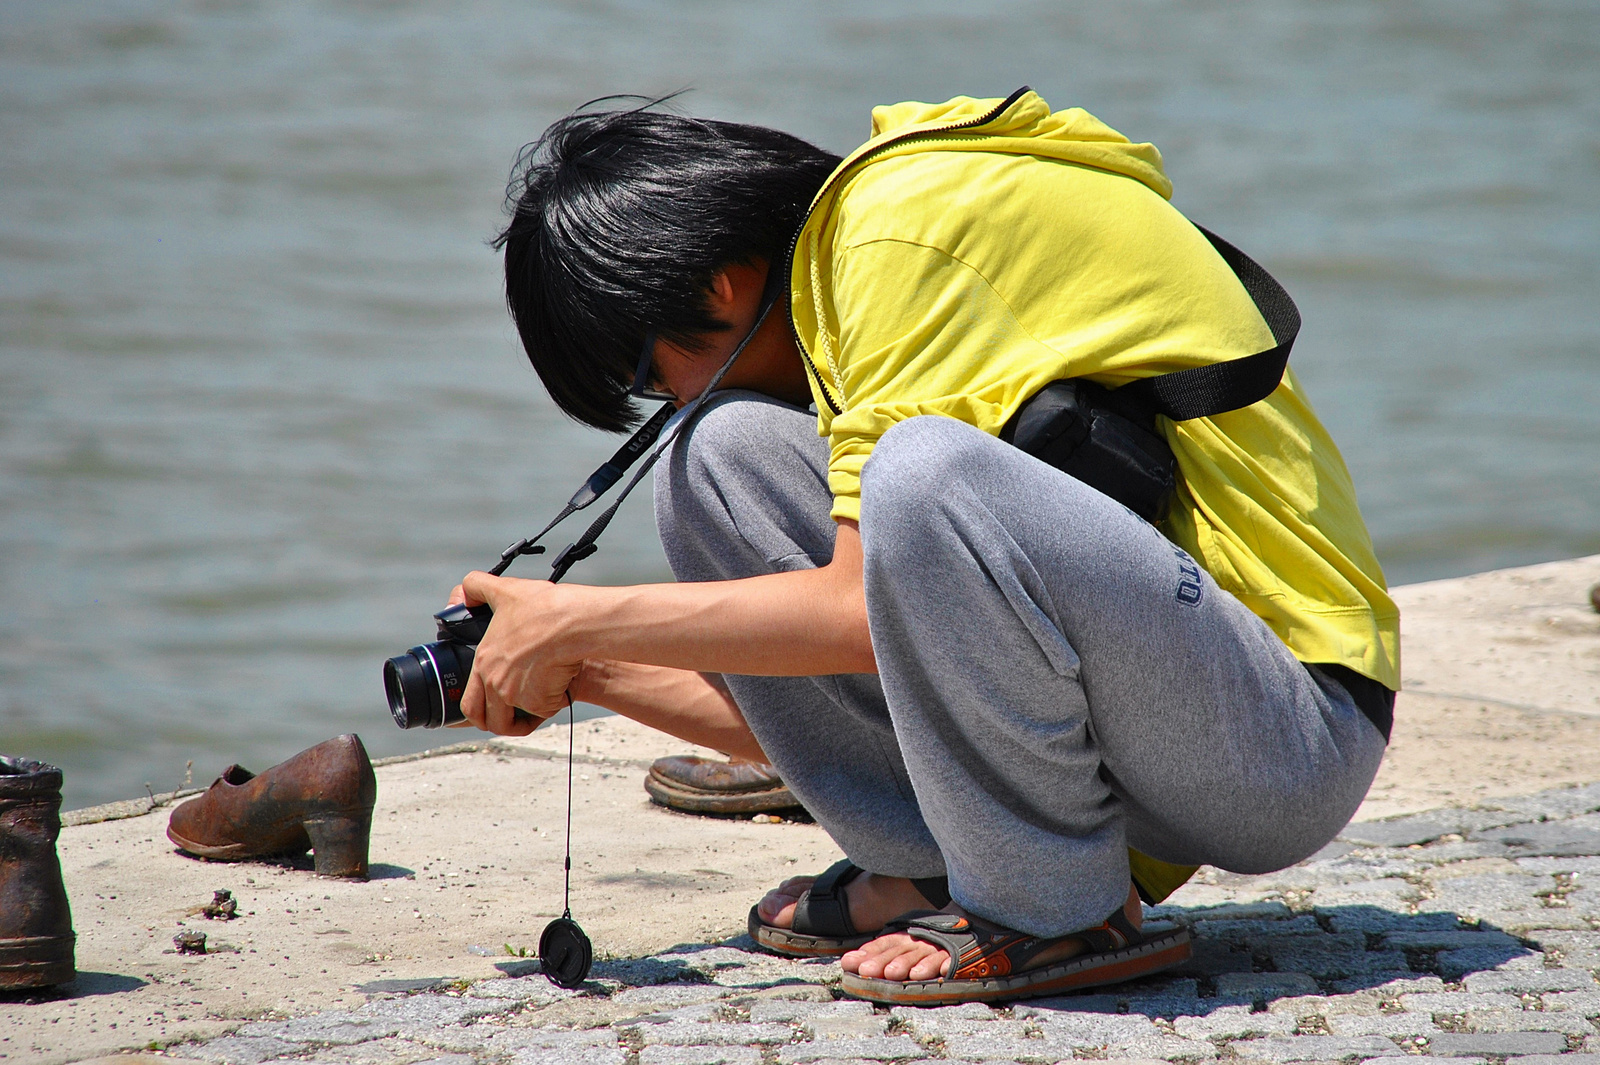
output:
[[[766,761],[720,676],[637,662],[586,662],[573,697],[699,747]]]

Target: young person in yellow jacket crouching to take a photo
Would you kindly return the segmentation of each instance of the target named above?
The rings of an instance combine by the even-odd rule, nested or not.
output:
[[[1293,373],[1152,422],[1178,472],[1157,525],[1000,438],[1051,382],[1274,347],[1154,147],[1019,91],[882,107],[845,160],[574,114],[520,171],[507,301],[563,411],[626,429],[630,393],[683,405],[744,349],[656,472],[678,584],[466,577],[494,608],[475,724],[526,732],[515,708],[570,692],[771,761],[850,857],[752,934],[888,1003],[1174,964],[1141,897],[1346,824],[1398,617]]]

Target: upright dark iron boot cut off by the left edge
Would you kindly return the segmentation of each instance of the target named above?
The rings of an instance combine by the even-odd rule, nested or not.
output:
[[[0,756],[0,991],[77,975],[59,836],[61,769]]]

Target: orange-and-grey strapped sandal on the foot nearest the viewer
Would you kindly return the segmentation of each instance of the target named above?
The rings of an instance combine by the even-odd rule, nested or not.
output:
[[[1102,983],[1122,983],[1189,958],[1189,932],[1152,923],[1136,929],[1117,908],[1099,927],[1040,939],[955,913],[906,915],[883,932],[906,932],[950,955],[950,975],[933,980],[883,980],[846,972],[845,995],[891,1006],[949,1006],[1059,995]],[[1045,950],[1075,939],[1088,947],[1054,964],[1027,969]]]

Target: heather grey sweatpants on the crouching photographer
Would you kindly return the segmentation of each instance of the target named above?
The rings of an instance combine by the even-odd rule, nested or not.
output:
[[[766,397],[707,403],[656,473],[680,580],[822,566],[827,443]],[[1150,525],[947,417],[862,473],[878,675],[728,676],[784,782],[858,865],[947,873],[1035,935],[1099,924],[1126,848],[1258,873],[1317,851],[1384,752],[1350,696]]]

